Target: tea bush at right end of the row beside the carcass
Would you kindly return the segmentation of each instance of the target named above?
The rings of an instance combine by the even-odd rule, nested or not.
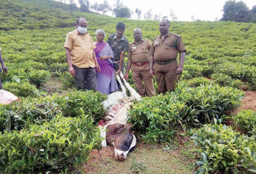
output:
[[[197,119],[200,124],[211,123],[215,117],[220,118],[227,110],[235,109],[240,105],[240,100],[244,96],[243,91],[231,87],[220,87],[217,84],[194,88],[186,88],[182,85],[184,84],[179,84],[176,89],[177,100],[198,110],[194,119]]]

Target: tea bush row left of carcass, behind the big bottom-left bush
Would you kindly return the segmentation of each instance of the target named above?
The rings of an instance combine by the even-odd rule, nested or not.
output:
[[[31,124],[42,124],[56,114],[76,117],[85,112],[98,121],[105,110],[101,102],[105,95],[93,91],[70,91],[66,95],[54,94],[38,98],[21,98],[8,105],[0,105],[0,131],[20,130]]]

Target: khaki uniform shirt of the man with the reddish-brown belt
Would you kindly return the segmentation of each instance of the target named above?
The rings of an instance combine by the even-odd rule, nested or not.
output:
[[[146,62],[150,59],[149,49],[151,42],[148,39],[141,40],[140,43],[136,43],[135,40],[129,44],[127,57],[132,58],[132,62]]]

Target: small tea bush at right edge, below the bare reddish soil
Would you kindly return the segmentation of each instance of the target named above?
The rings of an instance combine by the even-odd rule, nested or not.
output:
[[[242,110],[237,115],[234,115],[233,119],[241,130],[256,138],[256,112]]]

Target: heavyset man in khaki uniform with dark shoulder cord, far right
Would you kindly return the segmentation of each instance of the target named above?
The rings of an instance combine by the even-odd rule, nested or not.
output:
[[[166,93],[173,90],[178,82],[179,74],[182,74],[186,48],[180,35],[169,32],[170,22],[162,19],[159,23],[160,36],[153,39],[150,48],[150,75],[156,77],[158,93]],[[177,56],[180,54],[180,63],[177,64]]]

